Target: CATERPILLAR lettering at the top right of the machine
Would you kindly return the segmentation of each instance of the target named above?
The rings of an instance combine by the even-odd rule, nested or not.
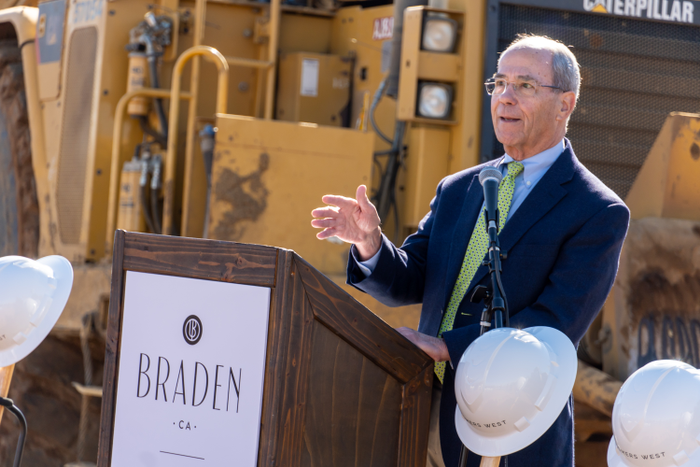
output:
[[[583,9],[677,23],[695,22],[695,6],[689,0],[583,0]]]

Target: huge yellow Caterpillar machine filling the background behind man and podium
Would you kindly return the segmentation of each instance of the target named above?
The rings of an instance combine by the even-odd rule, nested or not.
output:
[[[96,457],[115,230],[290,248],[342,285],[349,245],[318,241],[310,211],[365,184],[389,237],[412,233],[443,177],[502,154],[483,82],[520,33],[573,47],[582,91],[568,137],[633,218],[579,348],[577,466],[604,465],[616,391],[635,369],[700,364],[695,2],[2,7],[0,256],[59,254],[75,271],[51,337],[0,370],[0,394],[29,420],[25,462]],[[392,326],[418,323],[417,306],[346,290]],[[16,440],[3,421],[0,466]]]

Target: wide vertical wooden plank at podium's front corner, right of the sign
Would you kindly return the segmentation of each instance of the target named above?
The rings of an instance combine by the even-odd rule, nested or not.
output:
[[[280,250],[265,369],[260,466],[300,463],[307,410],[313,311],[294,254]]]

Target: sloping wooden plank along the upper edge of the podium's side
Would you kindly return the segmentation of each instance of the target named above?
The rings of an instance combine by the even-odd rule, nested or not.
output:
[[[363,355],[406,384],[433,360],[343,289],[298,259],[314,317]]]

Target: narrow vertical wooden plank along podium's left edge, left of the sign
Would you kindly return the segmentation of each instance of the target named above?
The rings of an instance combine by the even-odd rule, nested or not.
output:
[[[105,364],[102,380],[102,417],[100,437],[97,445],[97,466],[107,467],[112,452],[112,431],[114,429],[115,402],[117,397],[117,368],[119,355],[119,335],[121,334],[122,311],[124,308],[124,236],[123,230],[114,235],[112,255],[112,290],[110,291],[107,337],[105,342]]]

